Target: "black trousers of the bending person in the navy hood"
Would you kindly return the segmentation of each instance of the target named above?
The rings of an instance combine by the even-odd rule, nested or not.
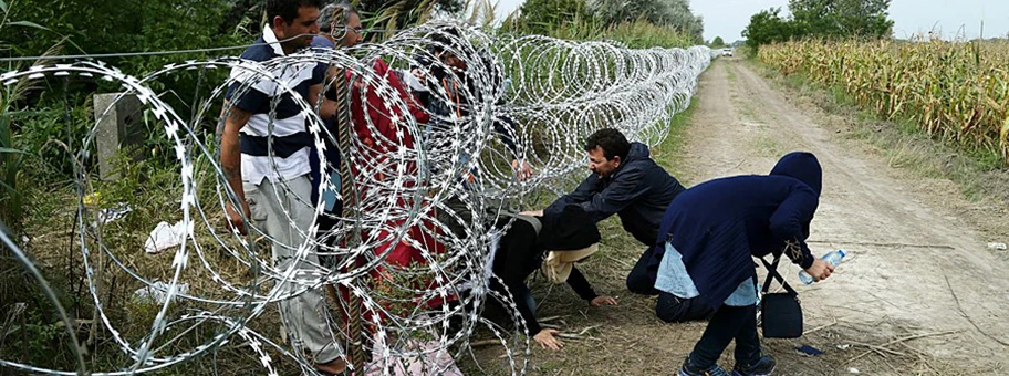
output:
[[[715,365],[732,340],[736,340],[737,364],[755,364],[760,359],[757,305],[729,306],[722,304],[711,316],[700,341],[694,345],[690,363],[699,368]]]

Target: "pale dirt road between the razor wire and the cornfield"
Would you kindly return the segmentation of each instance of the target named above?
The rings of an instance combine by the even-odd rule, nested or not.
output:
[[[895,170],[864,142],[843,137],[830,117],[790,103],[741,60],[716,62],[697,95],[686,149],[674,157],[683,158],[682,180],[767,174],[788,152],[812,152],[823,165],[824,188],[810,246],[818,254],[838,248],[851,254],[829,281],[798,288],[808,333],[764,341],[779,359],[777,374],[1009,372],[1009,262],[1006,252],[987,248],[998,234],[971,228],[955,210],[960,198],[948,181]],[[611,223],[604,233],[611,230],[620,231]],[[623,278],[639,244],[614,236],[601,250],[605,255],[583,270],[602,293],[620,295],[621,305],[589,309],[566,288],[535,286],[539,316],[565,317],[559,322],[564,332],[601,326],[561,352],[535,348],[530,373],[675,373],[704,324],[663,324],[654,300],[626,292]],[[781,271],[799,284],[797,267]],[[801,345],[825,354],[802,356],[794,351]],[[730,354],[721,361],[726,367]]]

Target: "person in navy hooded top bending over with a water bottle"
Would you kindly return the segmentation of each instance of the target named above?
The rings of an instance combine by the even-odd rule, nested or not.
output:
[[[792,153],[770,175],[716,179],[687,189],[659,227],[655,289],[659,318],[673,322],[683,302],[714,312],[679,375],[728,375],[717,361],[736,340],[734,375],[770,375],[774,358],[757,336],[753,257],[784,252],[816,280],[833,267],[805,244],[820,200],[822,171],[810,153]]]

